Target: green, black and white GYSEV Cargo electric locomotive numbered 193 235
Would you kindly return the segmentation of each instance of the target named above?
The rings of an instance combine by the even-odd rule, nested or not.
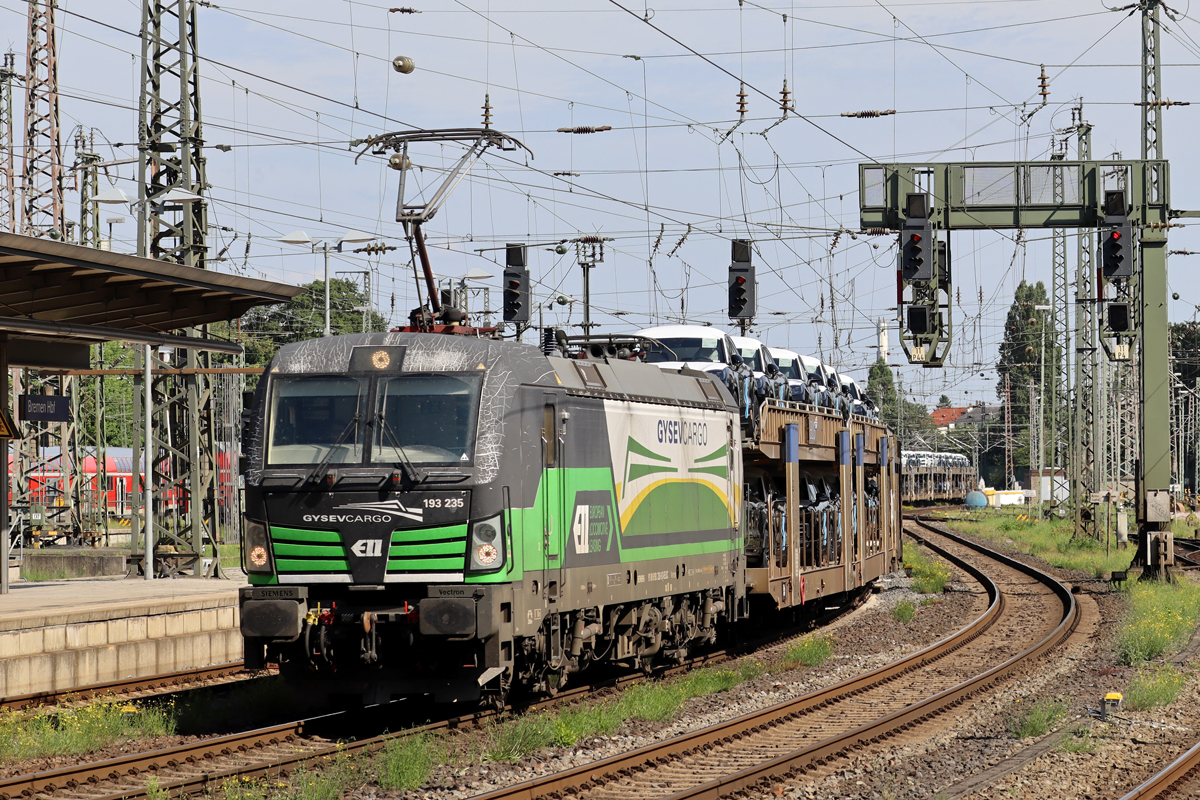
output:
[[[244,451],[250,668],[364,703],[498,700],[682,661],[748,609],[743,429],[713,374],[311,339],[268,366]]]

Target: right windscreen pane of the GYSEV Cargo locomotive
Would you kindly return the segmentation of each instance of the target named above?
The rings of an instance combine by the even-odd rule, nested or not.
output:
[[[480,375],[379,380],[373,463],[469,464],[475,457]]]

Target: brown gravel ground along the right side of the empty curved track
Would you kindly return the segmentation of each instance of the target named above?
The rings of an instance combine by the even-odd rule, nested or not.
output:
[[[782,796],[1120,798],[1200,738],[1200,685],[1194,681],[1170,706],[1122,710],[1115,724],[1093,720],[1088,706],[1098,706],[1106,692],[1126,692],[1133,676],[1132,669],[1116,666],[1111,642],[1123,603],[1106,583],[1090,575],[1049,567],[1030,555],[980,541],[1076,585],[1081,590],[1076,599],[1085,612],[1076,636],[1040,666],[989,692],[934,735],[929,735],[928,726],[923,727],[908,740],[841,762],[816,780],[780,787],[785,789]],[[1064,703],[1064,718],[1046,736],[1014,739],[1009,721],[1039,699]],[[1062,739],[1080,727],[1091,732],[1094,748],[1064,752]],[[966,784],[965,778],[985,770],[991,772],[982,783]]]

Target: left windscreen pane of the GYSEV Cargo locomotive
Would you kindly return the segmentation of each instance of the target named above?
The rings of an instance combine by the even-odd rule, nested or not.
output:
[[[365,379],[296,375],[272,383],[268,464],[362,461]]]

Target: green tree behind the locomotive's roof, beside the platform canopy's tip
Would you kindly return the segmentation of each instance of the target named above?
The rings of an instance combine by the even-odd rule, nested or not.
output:
[[[362,312],[354,309],[370,305],[367,296],[356,283],[343,278],[331,279],[329,289],[330,331],[335,336],[362,332]],[[388,330],[388,320],[373,311],[366,323],[367,332]],[[325,282],[313,281],[289,302],[252,308],[241,318],[246,366],[265,367],[282,345],[318,338],[324,330]]]

